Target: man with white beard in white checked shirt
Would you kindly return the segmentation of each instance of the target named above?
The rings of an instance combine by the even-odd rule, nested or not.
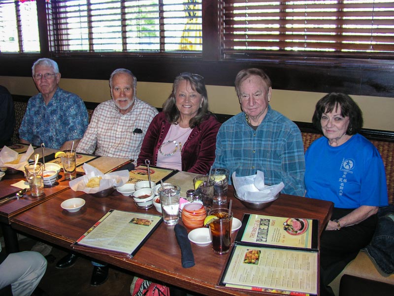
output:
[[[96,107],[77,152],[137,159],[157,109],[136,97],[137,79],[127,69],[109,78],[112,100]]]

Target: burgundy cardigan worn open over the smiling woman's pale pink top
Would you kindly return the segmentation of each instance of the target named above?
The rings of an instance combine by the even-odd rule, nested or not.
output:
[[[151,165],[156,165],[157,153],[170,126],[171,124],[165,119],[164,112],[160,112],[153,118],[142,142],[137,165],[144,164],[145,159],[149,159]],[[193,128],[182,147],[182,171],[208,174],[215,160],[216,134],[219,127],[220,123],[215,116],[205,115],[204,121]]]

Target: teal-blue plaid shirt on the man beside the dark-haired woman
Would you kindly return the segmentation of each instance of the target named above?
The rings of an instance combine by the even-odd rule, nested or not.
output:
[[[216,138],[213,167],[235,171],[239,177],[264,172],[265,184],[283,182],[285,194],[304,196],[305,157],[301,132],[294,122],[272,110],[255,131],[245,113],[222,124]]]

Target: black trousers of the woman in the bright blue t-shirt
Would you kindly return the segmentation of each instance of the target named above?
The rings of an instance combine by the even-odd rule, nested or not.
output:
[[[353,209],[334,208],[331,220],[346,216]],[[359,251],[371,241],[377,216],[340,230],[325,230],[320,240],[320,294],[334,295],[328,284],[357,257]]]

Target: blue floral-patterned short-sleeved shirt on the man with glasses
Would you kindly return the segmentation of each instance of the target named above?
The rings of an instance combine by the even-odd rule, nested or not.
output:
[[[48,105],[41,93],[30,98],[19,137],[35,146],[44,143],[46,148],[59,149],[66,141],[81,139],[87,126],[82,99],[58,87]]]

